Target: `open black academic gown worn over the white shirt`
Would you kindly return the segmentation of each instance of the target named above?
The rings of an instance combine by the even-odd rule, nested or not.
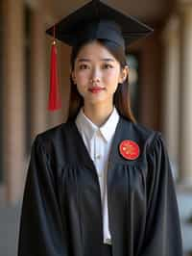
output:
[[[140,155],[127,160],[124,140]],[[180,218],[171,167],[159,132],[120,116],[108,161],[113,256],[181,256]],[[97,172],[74,121],[36,136],[25,185],[18,256],[102,255]]]

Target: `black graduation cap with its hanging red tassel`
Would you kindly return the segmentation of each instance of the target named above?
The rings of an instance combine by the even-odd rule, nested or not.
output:
[[[75,46],[85,39],[108,39],[125,50],[127,45],[152,32],[151,27],[131,15],[118,12],[99,0],[88,2],[49,28],[46,33],[54,37],[49,110],[60,109],[56,38],[70,46]]]

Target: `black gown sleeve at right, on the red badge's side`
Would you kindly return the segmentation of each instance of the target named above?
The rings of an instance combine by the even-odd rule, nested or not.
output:
[[[158,132],[147,159],[147,219],[139,256],[182,256],[175,184],[165,142]]]

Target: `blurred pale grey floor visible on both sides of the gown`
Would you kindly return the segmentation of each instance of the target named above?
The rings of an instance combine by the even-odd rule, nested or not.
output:
[[[177,192],[180,208],[184,256],[192,251],[192,224],[186,220],[192,216],[192,192]],[[0,208],[0,256],[16,256],[21,204]],[[191,255],[190,255],[191,256]]]

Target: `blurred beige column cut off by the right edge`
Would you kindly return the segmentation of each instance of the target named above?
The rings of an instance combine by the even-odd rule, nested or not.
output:
[[[180,178],[192,187],[192,4],[180,5]]]

